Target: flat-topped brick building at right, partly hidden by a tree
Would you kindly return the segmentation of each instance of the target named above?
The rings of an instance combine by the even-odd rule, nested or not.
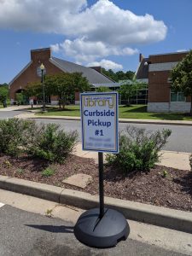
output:
[[[148,82],[148,112],[189,112],[190,97],[171,90],[170,72],[188,52],[140,55],[136,78]]]

